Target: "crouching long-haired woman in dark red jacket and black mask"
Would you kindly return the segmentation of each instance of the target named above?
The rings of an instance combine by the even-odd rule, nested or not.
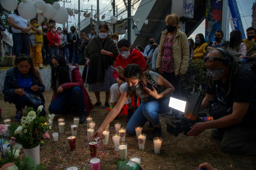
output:
[[[49,112],[62,114],[77,107],[80,115],[79,123],[85,123],[86,115],[93,109],[93,104],[83,86],[79,68],[67,65],[61,54],[57,54],[51,59],[51,88],[53,97]]]

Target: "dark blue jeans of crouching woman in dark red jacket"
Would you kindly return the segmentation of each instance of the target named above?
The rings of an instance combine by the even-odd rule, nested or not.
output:
[[[57,98],[51,102],[49,112],[54,114],[62,114],[65,111],[71,111],[75,105],[78,107],[80,115],[85,114],[85,102],[83,98],[83,91],[80,87],[75,86],[73,89],[64,90]]]

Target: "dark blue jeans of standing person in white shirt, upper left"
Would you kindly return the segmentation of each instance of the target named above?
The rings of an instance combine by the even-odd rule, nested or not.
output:
[[[30,55],[30,37],[29,34],[13,33],[13,47],[15,55],[26,54]]]

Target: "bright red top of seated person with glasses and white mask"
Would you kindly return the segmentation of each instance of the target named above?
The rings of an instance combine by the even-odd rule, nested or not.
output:
[[[132,49],[130,51],[130,56],[127,59],[123,58],[121,54],[119,54],[117,56],[117,60],[115,61],[114,67],[121,66],[123,69],[125,69],[128,64],[138,64],[142,69],[146,70],[146,60],[144,59],[141,52],[136,49]],[[115,70],[113,71],[113,77],[114,79],[119,77],[117,71]]]

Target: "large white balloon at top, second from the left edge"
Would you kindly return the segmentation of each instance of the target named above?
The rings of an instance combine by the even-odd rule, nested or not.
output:
[[[29,11],[28,11],[29,9]],[[33,19],[37,15],[37,7],[35,2],[31,0],[26,0],[26,2],[21,2],[18,8],[19,15],[24,19]]]

